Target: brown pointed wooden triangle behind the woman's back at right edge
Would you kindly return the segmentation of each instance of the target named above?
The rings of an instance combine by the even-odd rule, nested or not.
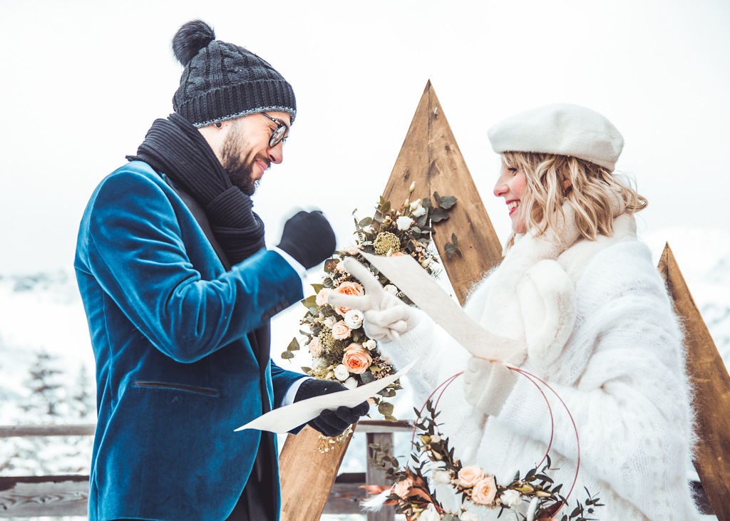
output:
[[[699,436],[694,447],[695,467],[718,520],[730,521],[730,376],[669,244],[658,269],[685,327]]]

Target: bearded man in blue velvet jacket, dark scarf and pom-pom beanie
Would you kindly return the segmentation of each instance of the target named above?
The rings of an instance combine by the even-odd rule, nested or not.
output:
[[[269,360],[269,319],[334,251],[320,212],[264,246],[250,196],[296,115],[291,85],[197,20],[174,36],[174,113],[106,177],[75,269],[96,357],[90,520],[276,520],[276,439],[234,429],[344,387]],[[367,404],[310,422],[334,436]]]

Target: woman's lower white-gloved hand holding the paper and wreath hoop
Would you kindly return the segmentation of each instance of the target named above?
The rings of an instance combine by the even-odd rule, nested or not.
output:
[[[479,412],[496,416],[516,381],[515,371],[503,363],[472,357],[464,371],[464,395],[466,401]]]

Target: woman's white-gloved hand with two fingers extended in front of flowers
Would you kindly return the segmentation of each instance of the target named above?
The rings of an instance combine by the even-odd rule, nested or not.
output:
[[[347,306],[363,312],[363,328],[367,336],[375,340],[393,340],[418,323],[418,312],[385,291],[369,269],[351,257],[344,263],[345,269],[362,283],[365,295],[333,292],[328,295],[327,301],[331,306]]]

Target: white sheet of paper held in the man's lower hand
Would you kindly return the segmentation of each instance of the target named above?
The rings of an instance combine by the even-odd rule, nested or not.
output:
[[[272,433],[291,431],[293,428],[318,417],[325,409],[337,409],[339,406],[354,407],[361,404],[406,374],[413,367],[413,364],[415,364],[415,361],[409,363],[396,374],[388,375],[355,389],[315,396],[285,407],[279,407],[263,416],[259,416],[246,425],[240,426],[234,432],[243,431],[244,429],[258,429],[259,431]]]

